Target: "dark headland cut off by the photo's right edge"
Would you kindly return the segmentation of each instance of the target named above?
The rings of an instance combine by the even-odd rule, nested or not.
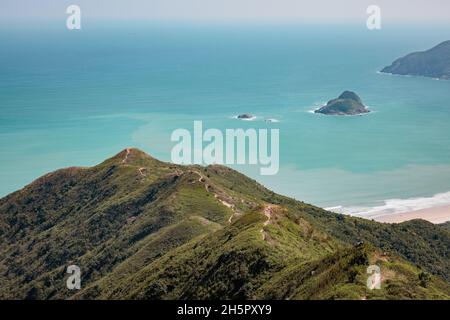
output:
[[[381,72],[450,80],[450,40],[397,59]]]

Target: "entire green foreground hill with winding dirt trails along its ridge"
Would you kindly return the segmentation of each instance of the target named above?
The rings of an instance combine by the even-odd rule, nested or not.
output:
[[[0,298],[450,298],[445,228],[327,212],[137,149],[1,199],[0,241]],[[80,291],[65,287],[70,264]],[[366,288],[369,264],[381,290]]]

